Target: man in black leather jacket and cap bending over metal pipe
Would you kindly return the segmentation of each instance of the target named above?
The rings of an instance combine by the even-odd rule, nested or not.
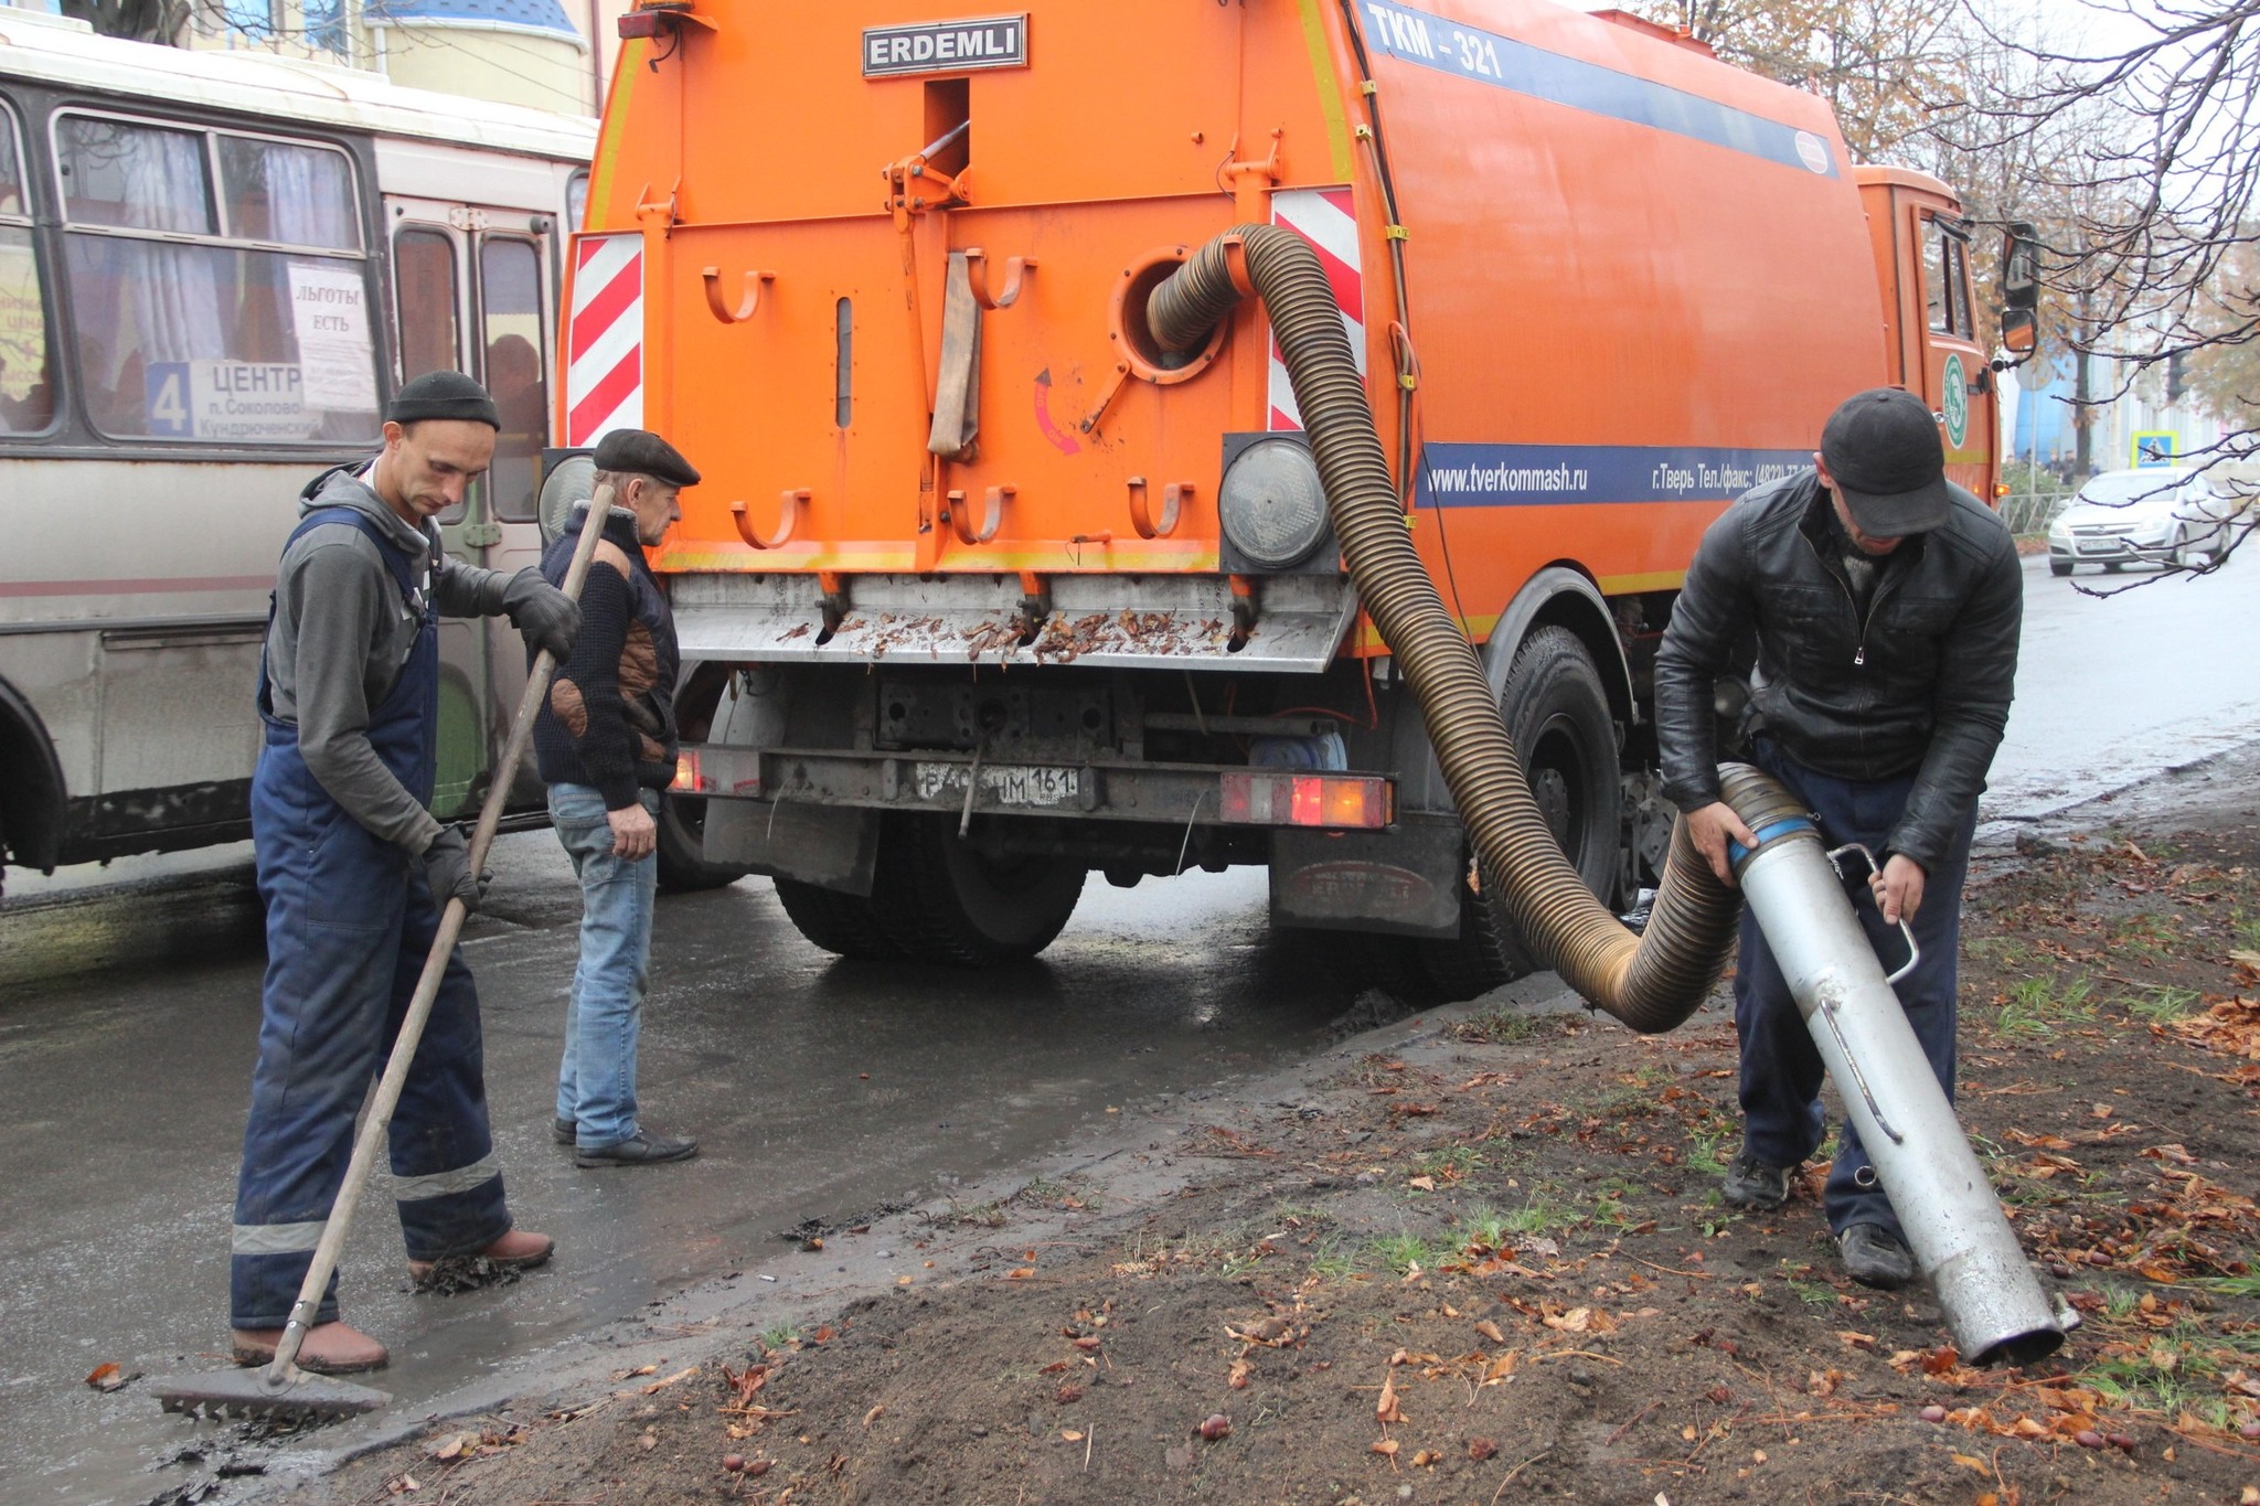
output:
[[[1715,686],[1754,632],[1754,759],[1819,817],[1831,847],[1860,842],[1880,872],[1855,905],[1887,969],[1907,921],[1923,960],[1898,987],[1907,1023],[1955,1091],[1962,881],[1987,768],[2009,720],[2023,569],[2007,526],[1946,481],[1930,409],[1901,388],[1849,397],[1813,470],[1756,488],[1704,533],[1657,653],[1663,788],[1711,869],[1754,844],[1720,802]],[[1742,1154],[1727,1201],[1779,1208],[1822,1142],[1822,1059],[1756,923],[1736,969]],[[1824,1192],[1855,1280],[1914,1278],[1898,1217],[1846,1122]]]

